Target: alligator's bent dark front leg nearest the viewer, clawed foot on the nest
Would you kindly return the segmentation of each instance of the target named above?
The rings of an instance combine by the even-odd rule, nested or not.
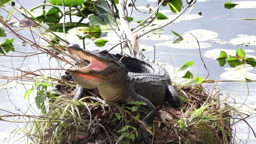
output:
[[[134,97],[131,98],[131,100],[146,103],[146,105],[144,105],[144,108],[146,108],[146,110],[148,110],[148,114],[142,119],[142,121],[146,122],[147,124],[152,123],[154,118],[156,117],[156,114],[157,114],[156,107],[149,100],[140,96],[137,93],[135,94]],[[139,130],[138,130],[138,133],[139,133],[138,143],[141,140],[143,140],[147,144],[148,132],[140,127]]]

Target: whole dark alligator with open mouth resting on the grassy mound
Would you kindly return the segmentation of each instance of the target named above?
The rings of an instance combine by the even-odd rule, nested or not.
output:
[[[98,88],[107,102],[145,102],[148,110],[142,121],[150,124],[157,115],[156,106],[169,102],[174,108],[180,107],[180,98],[171,85],[168,72],[157,63],[140,60],[120,54],[110,54],[107,50],[99,53],[80,48],[78,44],[67,46],[70,54],[76,54],[83,61],[90,61],[85,67],[66,68],[77,83],[74,99],[83,96],[84,88]],[[148,132],[138,130],[138,139],[147,143]]]

